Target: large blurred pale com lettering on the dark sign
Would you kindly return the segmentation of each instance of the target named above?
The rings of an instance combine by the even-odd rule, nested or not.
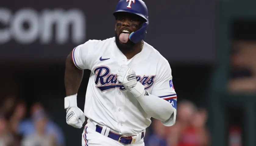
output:
[[[37,39],[40,44],[49,44],[52,40],[65,44],[69,39],[79,44],[85,40],[85,15],[79,9],[65,11],[57,8],[37,12],[33,8],[22,8],[12,13],[10,9],[0,8],[0,14],[0,21],[5,25],[0,30],[0,44],[11,40],[21,45],[31,44]]]

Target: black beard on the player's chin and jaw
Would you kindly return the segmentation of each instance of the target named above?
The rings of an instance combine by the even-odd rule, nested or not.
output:
[[[116,33],[116,46],[119,48],[119,50],[123,53],[129,53],[131,50],[133,50],[133,47],[135,46],[135,43],[133,43],[130,39],[127,43],[123,44],[119,42],[119,36]]]

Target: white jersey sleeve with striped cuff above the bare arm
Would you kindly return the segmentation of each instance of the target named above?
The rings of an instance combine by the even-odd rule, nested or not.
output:
[[[90,69],[90,57],[92,56],[92,51],[94,44],[91,40],[86,43],[75,47],[72,51],[72,60],[75,66],[81,70]]]

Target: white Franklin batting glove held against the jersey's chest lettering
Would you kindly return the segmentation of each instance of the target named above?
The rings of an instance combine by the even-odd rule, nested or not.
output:
[[[124,88],[130,91],[135,98],[144,95],[144,85],[136,80],[136,74],[128,65],[122,65],[118,70],[117,80],[122,83]]]

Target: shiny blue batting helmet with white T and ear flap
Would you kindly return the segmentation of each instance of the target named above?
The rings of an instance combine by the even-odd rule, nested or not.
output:
[[[118,12],[133,13],[145,19],[145,23],[142,24],[141,28],[132,32],[129,36],[129,39],[133,43],[138,43],[143,40],[148,27],[148,8],[145,2],[142,0],[120,0],[116,5],[116,10],[113,15],[115,16]]]

